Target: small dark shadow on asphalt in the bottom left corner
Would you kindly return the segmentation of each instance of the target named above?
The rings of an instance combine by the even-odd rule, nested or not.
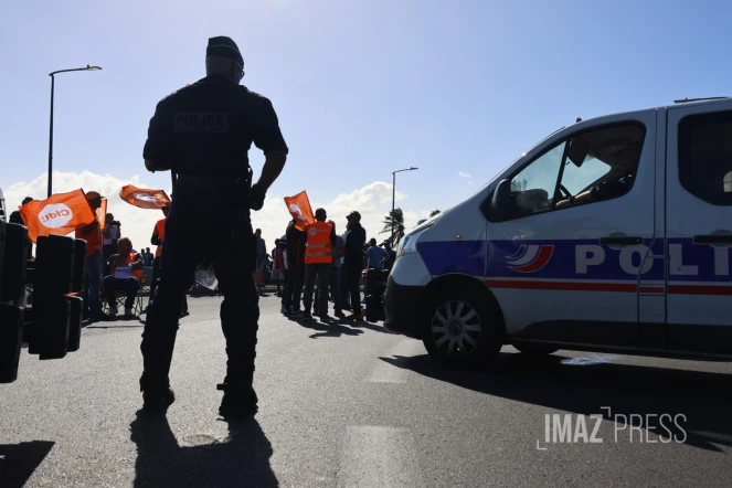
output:
[[[49,441],[21,444],[0,444],[0,486],[21,488],[53,447]]]

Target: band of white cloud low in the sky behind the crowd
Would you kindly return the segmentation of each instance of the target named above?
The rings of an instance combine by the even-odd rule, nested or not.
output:
[[[23,198],[32,197],[42,200],[46,194],[47,177],[41,174],[29,182],[18,182],[9,188],[3,188],[6,204],[9,211],[15,210]],[[95,190],[108,198],[108,212],[121,223],[123,235],[128,236],[136,248],[150,247],[150,236],[155,223],[162,218],[158,210],[138,209],[124,202],[119,198],[119,190],[125,184],[134,184],[139,188],[149,188],[140,181],[139,176],[129,180],[120,180],[109,174],[96,174],[91,171],[57,172],[53,173],[54,192],[65,192],[78,188],[84,191]],[[262,234],[267,242],[267,247],[273,247],[276,237],[285,233],[287,223],[290,221],[289,212],[285,206],[284,198],[301,191],[297,189],[288,194],[268,195],[264,208],[258,212],[252,212],[252,225],[262,229]],[[374,181],[365,187],[356,189],[350,193],[341,193],[330,202],[323,202],[317,192],[309,193],[312,210],[322,206],[328,212],[328,218],[336,222],[339,234],[346,231],[346,215],[353,210],[361,213],[361,224],[367,230],[369,238],[374,237],[382,241],[389,236],[388,233],[380,234],[384,224],[384,218],[392,206],[392,185],[383,181]],[[432,209],[409,209],[404,206],[406,195],[396,192],[396,205],[404,211],[406,229],[413,227],[420,219],[425,219]]]

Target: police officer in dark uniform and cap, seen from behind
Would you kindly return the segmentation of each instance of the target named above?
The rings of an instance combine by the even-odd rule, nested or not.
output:
[[[176,400],[169,371],[181,297],[205,255],[214,263],[226,339],[223,417],[253,415],[258,294],[254,284],[255,242],[250,209],[261,210],[288,148],[272,103],[240,82],[244,60],[230,38],[209,39],[206,76],[158,103],[142,156],[149,171],[171,170],[176,198],[166,221],[160,280],[142,332],[142,410],[165,411]],[[265,155],[252,184],[248,150]]]

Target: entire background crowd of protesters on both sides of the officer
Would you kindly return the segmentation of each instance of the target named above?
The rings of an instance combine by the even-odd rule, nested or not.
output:
[[[96,211],[103,197],[96,191],[88,191],[86,199]],[[30,197],[25,198],[23,204],[31,200]],[[150,238],[150,243],[157,246],[155,254],[150,247],[139,252],[135,250],[132,242],[121,236],[121,223],[112,213],[106,214],[104,226],[95,221],[76,230],[75,236],[87,243],[83,291],[86,320],[115,319],[118,315],[118,293],[125,296],[125,317],[135,317],[135,300],[142,276],[148,272],[150,296],[155,295],[160,274],[165,223],[170,206],[166,205],[161,210],[163,218],[156,222]],[[270,253],[267,253],[262,230],[255,231],[254,282],[259,295],[263,295],[265,287],[265,268],[270,264],[268,282],[277,287],[276,295],[282,299],[280,309],[285,316],[307,320],[315,315],[327,319],[328,304],[332,301],[336,317],[361,320],[363,270],[391,269],[396,253],[389,240],[380,244],[375,238],[367,242],[361,214],[357,211],[347,216],[342,234],[337,233],[337,225],[328,220],[325,209],[317,209],[315,219],[314,223],[301,225],[291,220],[285,234],[275,240]],[[10,214],[9,221],[23,224],[18,211]],[[30,250],[31,246],[29,258],[32,257]],[[103,311],[105,300],[106,314]],[[344,311],[350,315],[347,317]],[[188,315],[185,296],[181,315]]]

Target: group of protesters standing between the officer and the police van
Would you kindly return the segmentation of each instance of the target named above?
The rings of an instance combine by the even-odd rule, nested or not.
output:
[[[363,270],[391,269],[396,253],[390,241],[378,245],[371,238],[367,243],[359,212],[348,214],[342,235],[338,235],[337,225],[328,220],[325,209],[316,210],[315,220],[303,225],[291,220],[285,234],[275,240],[272,282],[282,298],[280,311],[293,318],[310,320],[317,316],[327,320],[328,304],[332,300],[336,317],[361,320]],[[256,236],[262,240],[261,231],[257,230]],[[257,245],[257,263],[261,256]],[[262,283],[261,270],[255,280]],[[350,315],[346,316],[344,310]]]

